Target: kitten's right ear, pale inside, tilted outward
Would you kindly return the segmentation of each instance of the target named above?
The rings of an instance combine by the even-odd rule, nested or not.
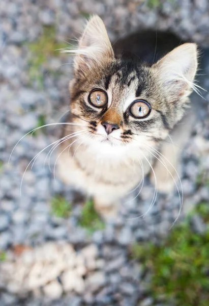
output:
[[[184,103],[191,90],[196,90],[194,77],[197,70],[197,46],[185,43],[160,59],[153,65],[157,78],[171,103]]]

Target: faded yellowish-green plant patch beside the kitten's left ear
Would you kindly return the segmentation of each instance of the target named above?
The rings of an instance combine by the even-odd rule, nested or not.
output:
[[[29,57],[29,79],[37,81],[39,87],[43,88],[43,70],[47,67],[47,60],[51,56],[58,56],[60,53],[57,49],[65,48],[67,43],[58,42],[56,40],[56,31],[53,26],[43,27],[42,35],[37,41],[27,44],[31,53]]]

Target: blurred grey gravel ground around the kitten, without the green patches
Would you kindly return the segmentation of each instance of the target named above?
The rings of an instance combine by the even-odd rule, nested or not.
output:
[[[128,249],[134,241],[158,241],[168,233],[178,214],[177,191],[169,197],[158,195],[145,218],[136,218],[152,201],[154,189],[146,181],[140,197],[131,200],[130,196],[124,202],[114,224],[107,223],[104,230],[89,236],[77,224],[82,205],[76,192],[54,180],[47,164],[43,166],[49,148],[32,169],[26,169],[40,150],[57,139],[59,127],[24,137],[8,164],[15,144],[37,126],[41,116],[46,123],[58,122],[68,110],[72,60],[67,55],[47,55],[38,67],[42,86],[40,79],[33,78],[30,63],[34,54],[29,46],[40,37],[43,27],[54,27],[57,41],[70,41],[79,36],[84,16],[97,13],[112,40],[148,27],[170,29],[202,46],[209,45],[206,0],[162,1],[159,8],[149,8],[142,1],[126,3],[51,0],[43,5],[36,0],[0,0],[0,250],[7,251],[6,261],[0,263],[1,306],[153,305],[145,289],[150,274],[130,260]],[[208,91],[209,56],[200,73],[204,74],[201,86]],[[185,199],[181,219],[196,203],[209,200],[207,187],[196,184],[197,177],[209,168],[209,95],[203,94],[200,119],[182,154]],[[49,161],[52,169],[55,159],[53,154]],[[51,214],[50,201],[56,194],[69,201],[77,199],[69,218]],[[201,232],[204,224],[198,216],[194,224]],[[14,251],[11,246],[15,245],[19,248]]]

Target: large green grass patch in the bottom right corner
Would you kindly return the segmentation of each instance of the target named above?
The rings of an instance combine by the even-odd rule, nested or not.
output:
[[[203,218],[205,212],[208,214],[208,205],[201,203],[197,208]],[[172,301],[175,306],[207,306],[209,230],[202,235],[196,234],[190,226],[190,218],[174,228],[160,246],[134,244],[132,257],[151,269],[150,291],[156,300],[163,296],[167,304]]]

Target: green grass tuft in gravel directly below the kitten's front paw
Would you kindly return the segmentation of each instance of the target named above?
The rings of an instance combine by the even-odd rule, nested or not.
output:
[[[104,228],[104,222],[95,211],[94,202],[91,199],[85,202],[78,224],[85,227],[89,234]]]

